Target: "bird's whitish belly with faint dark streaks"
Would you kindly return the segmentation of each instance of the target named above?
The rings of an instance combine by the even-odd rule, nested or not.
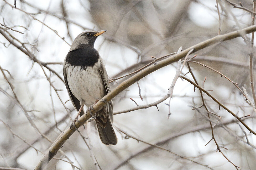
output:
[[[93,67],[87,67],[86,71],[81,71],[80,66],[71,65],[68,67],[69,69],[66,69],[67,82],[72,94],[80,102],[84,100],[86,106],[94,104],[97,99],[104,96],[105,87],[101,75],[98,71],[92,70],[98,66],[96,63]]]

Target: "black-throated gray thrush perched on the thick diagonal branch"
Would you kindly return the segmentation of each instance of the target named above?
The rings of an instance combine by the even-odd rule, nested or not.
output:
[[[78,111],[78,116],[85,114],[83,106],[91,111],[93,104],[110,92],[108,74],[103,60],[94,48],[97,37],[107,30],[86,31],[80,33],[71,44],[63,63],[63,76],[71,103]],[[110,100],[96,112],[95,118],[100,139],[105,145],[116,145],[117,136],[114,132],[113,102]]]

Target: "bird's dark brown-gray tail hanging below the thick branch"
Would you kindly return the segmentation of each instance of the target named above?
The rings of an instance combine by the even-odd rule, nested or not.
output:
[[[96,120],[97,128],[99,131],[99,135],[101,138],[102,143],[105,145],[116,145],[117,144],[117,137],[112,124],[109,120],[109,116],[107,115],[107,122],[105,128],[101,126],[101,124]]]

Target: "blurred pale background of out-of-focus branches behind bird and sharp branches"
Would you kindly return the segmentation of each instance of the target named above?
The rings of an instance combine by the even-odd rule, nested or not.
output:
[[[219,27],[220,34],[225,34],[250,26],[251,14],[231,3],[252,10],[253,0],[239,2],[17,0],[15,9],[14,1],[1,1],[0,167],[34,169],[74,120],[76,111],[63,83],[62,62],[78,34],[108,30],[97,39],[95,48],[109,78],[117,78],[153,61],[151,56],[158,58],[217,36]],[[239,88],[245,87],[253,100],[249,41],[250,35],[224,41],[189,58],[197,54],[194,61],[223,73]],[[250,115],[243,120],[256,131],[255,112],[233,83],[199,64],[190,66],[200,86],[213,90],[209,93],[239,117]],[[140,90],[136,83],[124,90],[113,99],[114,112],[137,106],[134,101],[146,105],[163,98],[176,68],[173,63],[139,80]],[[185,65],[181,75],[188,71]],[[190,73],[186,77],[193,80]],[[127,78],[112,82],[111,89]],[[199,90],[194,92],[193,85],[179,78],[171,100],[159,103],[158,108],[114,116],[117,145],[102,144],[92,121],[85,129],[80,127],[81,133],[72,134],[45,169],[256,169],[255,135],[203,96],[214,113],[210,116],[216,143],[227,149],[220,148],[232,163],[216,152],[213,140],[208,143],[212,131],[207,111],[200,107]]]

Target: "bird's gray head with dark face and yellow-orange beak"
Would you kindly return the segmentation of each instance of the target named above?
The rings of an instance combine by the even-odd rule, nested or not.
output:
[[[79,48],[86,48],[88,46],[94,46],[94,42],[97,39],[97,37],[107,30],[101,30],[101,31],[86,31],[79,34],[75,40],[73,41],[70,51],[79,49]]]

